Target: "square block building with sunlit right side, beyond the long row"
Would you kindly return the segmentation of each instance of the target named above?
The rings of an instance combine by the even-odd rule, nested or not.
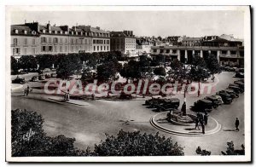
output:
[[[136,54],[136,38],[132,31],[110,32],[110,50],[123,55]]]

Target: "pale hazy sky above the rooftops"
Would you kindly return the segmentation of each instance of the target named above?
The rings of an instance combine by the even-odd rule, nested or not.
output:
[[[136,36],[206,35],[233,34],[244,37],[244,15],[241,11],[49,11],[14,12],[12,24],[38,20],[42,25],[50,21],[56,24],[75,26],[100,26],[109,31],[131,30]]]

